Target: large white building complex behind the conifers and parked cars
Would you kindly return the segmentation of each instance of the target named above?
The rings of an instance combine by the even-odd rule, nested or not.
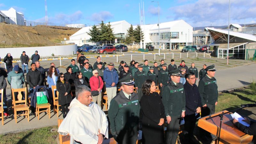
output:
[[[127,21],[110,22],[113,33],[116,36],[116,44],[121,44],[121,40],[125,38],[127,29],[131,27]],[[99,25],[97,25],[99,26]],[[75,43],[77,45],[94,44],[90,41],[91,36],[87,34],[92,27],[84,27],[69,37],[66,43]],[[136,26],[133,26],[136,28]],[[144,33],[146,44],[152,44],[158,48],[158,24],[142,25],[141,29]],[[184,20],[176,20],[160,23],[160,47],[161,49],[169,49],[170,45],[174,49],[182,49],[185,45],[193,43],[193,27]]]

